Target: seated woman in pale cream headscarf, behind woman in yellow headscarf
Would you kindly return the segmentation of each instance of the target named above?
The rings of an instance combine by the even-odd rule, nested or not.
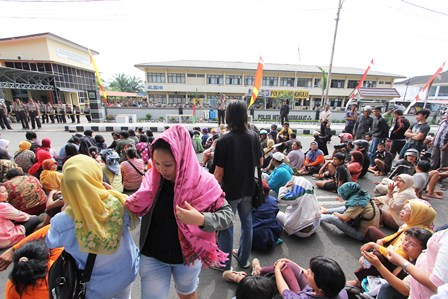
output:
[[[373,200],[381,209],[381,222],[394,230],[403,225],[400,211],[407,200],[416,199],[414,179],[409,174],[400,174],[395,183],[388,186],[387,195],[375,197]]]

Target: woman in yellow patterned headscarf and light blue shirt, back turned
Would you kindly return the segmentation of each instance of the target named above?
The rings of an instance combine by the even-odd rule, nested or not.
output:
[[[61,182],[67,208],[51,219],[49,248],[64,246],[80,268],[96,253],[87,298],[129,298],[139,265],[130,229],[138,219],[124,207],[126,195],[107,190],[101,167],[77,155],[64,164]]]

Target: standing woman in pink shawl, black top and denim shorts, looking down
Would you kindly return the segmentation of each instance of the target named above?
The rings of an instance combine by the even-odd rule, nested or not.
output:
[[[220,266],[227,256],[215,231],[232,225],[233,212],[214,176],[198,163],[188,131],[180,125],[151,146],[153,167],[126,201],[142,217],[142,298],[168,298],[173,276],[179,298],[197,298],[202,265]]]

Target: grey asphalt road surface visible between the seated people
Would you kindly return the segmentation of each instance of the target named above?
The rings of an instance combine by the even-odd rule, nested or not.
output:
[[[18,143],[22,140],[25,140],[25,131],[18,130],[18,124],[13,124],[13,128],[17,128],[17,130],[1,131],[1,137],[11,142],[8,148],[11,155],[18,148]],[[52,146],[56,149],[59,149],[62,145],[64,145],[66,141],[73,135],[73,133],[64,132],[63,127],[60,125],[44,125],[43,129],[36,130],[36,132],[39,139],[49,137],[52,140]],[[106,132],[102,132],[101,134],[105,137],[106,142],[110,144],[110,142],[112,141],[110,134]],[[302,142],[304,148],[308,148],[310,142],[313,140],[313,138],[310,136],[298,136],[298,138]],[[332,145],[337,143],[339,143],[338,138],[333,137],[333,141],[329,145],[330,151],[332,149]],[[307,178],[314,183],[314,180],[311,177]],[[359,183],[364,190],[372,192],[375,186],[374,183],[379,180],[379,178],[368,174],[367,177],[359,180]],[[325,207],[332,207],[337,205],[335,199],[336,195],[334,193],[317,190],[317,198],[319,202],[321,202],[321,204]],[[437,211],[435,223],[436,226],[446,223],[446,219],[448,219],[448,208],[446,205],[447,200],[448,196],[445,193],[443,200],[432,200],[431,202],[431,204]],[[280,209],[284,211],[285,207],[281,207]],[[387,229],[384,229],[384,231],[386,233],[391,233],[391,231]],[[237,248],[238,245],[237,242],[239,240],[239,232],[240,224],[238,217],[236,217],[236,236],[234,238],[235,248]],[[137,241],[139,229],[137,228],[133,234],[134,240]],[[253,252],[252,257],[259,258],[262,266],[272,265],[277,259],[287,257],[291,260],[296,261],[303,267],[308,267],[310,258],[316,255],[324,255],[331,257],[339,262],[347,276],[347,279],[353,279],[355,277],[353,271],[357,268],[358,258],[360,256],[359,247],[362,244],[358,241],[346,237],[331,225],[321,225],[317,233],[307,239],[288,236],[286,233],[283,233],[281,238],[284,240],[283,244],[277,246],[272,252]],[[233,267],[238,271],[243,270],[238,267],[235,259],[233,259]],[[0,290],[2,290],[2,294],[10,270],[11,267],[6,271],[0,272]],[[250,271],[247,270],[247,273],[250,273]],[[221,272],[211,269],[202,270],[199,284],[200,298],[232,298],[234,296],[236,285],[225,282],[221,278],[221,274]],[[170,291],[170,298],[177,298],[173,285]],[[133,298],[140,298],[140,282],[138,278],[134,282],[132,295]]]

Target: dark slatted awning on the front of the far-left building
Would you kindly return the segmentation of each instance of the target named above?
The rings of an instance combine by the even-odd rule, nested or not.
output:
[[[0,88],[54,90],[54,75],[0,66]]]

